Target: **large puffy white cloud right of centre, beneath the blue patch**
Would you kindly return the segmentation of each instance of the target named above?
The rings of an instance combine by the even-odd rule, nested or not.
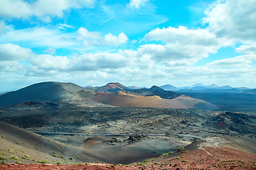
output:
[[[178,28],[156,28],[145,35],[145,40],[162,41],[165,45],[142,45],[142,52],[151,54],[154,60],[171,60],[172,64],[177,60],[190,60],[194,64],[209,54],[215,54],[223,46],[231,42],[216,38],[213,33],[205,29],[188,29],[183,26]],[[183,61],[183,64],[188,61]]]

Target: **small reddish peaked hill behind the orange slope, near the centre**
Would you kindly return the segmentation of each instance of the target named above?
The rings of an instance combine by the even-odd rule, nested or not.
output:
[[[95,89],[95,91],[101,91],[101,92],[129,91],[129,90],[130,90],[129,88],[127,88],[126,86],[124,86],[118,82],[117,83],[109,83],[109,84],[106,84],[105,86],[100,86]]]

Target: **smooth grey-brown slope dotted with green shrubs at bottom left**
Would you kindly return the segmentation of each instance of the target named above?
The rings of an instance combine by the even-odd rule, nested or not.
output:
[[[85,149],[48,140],[46,137],[7,123],[0,122],[0,135],[0,154],[6,158],[6,163],[16,161],[40,163],[42,161],[51,164],[58,164],[58,162],[72,164],[100,161],[99,158],[93,156],[93,153],[89,153]]]

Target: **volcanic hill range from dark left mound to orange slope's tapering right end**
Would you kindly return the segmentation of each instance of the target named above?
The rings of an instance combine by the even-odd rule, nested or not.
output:
[[[100,92],[105,91],[105,92]],[[110,83],[95,91],[72,83],[43,82],[0,96],[0,106],[34,105],[41,103],[75,105],[111,105],[155,108],[216,108],[206,101],[165,91],[158,86],[130,90],[119,83]]]

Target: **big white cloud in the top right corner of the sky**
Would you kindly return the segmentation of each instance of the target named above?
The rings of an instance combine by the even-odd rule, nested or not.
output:
[[[220,38],[252,40],[256,38],[256,0],[218,0],[208,11],[204,23]]]

